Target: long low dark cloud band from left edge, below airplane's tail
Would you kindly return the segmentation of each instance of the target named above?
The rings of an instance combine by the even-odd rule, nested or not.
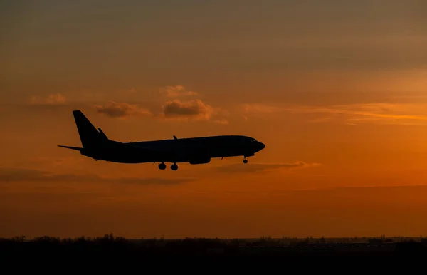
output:
[[[191,180],[196,179],[176,177],[100,177],[91,174],[56,174],[43,170],[0,167],[0,182],[110,182],[135,185],[173,185]]]

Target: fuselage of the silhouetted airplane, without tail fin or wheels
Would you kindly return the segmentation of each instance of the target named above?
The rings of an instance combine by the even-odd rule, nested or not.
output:
[[[142,142],[107,140],[98,147],[82,150],[96,160],[120,163],[189,162],[209,163],[217,157],[251,157],[264,145],[252,137],[218,135]]]

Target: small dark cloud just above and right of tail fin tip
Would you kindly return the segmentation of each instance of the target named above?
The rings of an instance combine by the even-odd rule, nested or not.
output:
[[[118,103],[110,101],[106,105],[95,105],[98,113],[107,115],[110,118],[128,118],[130,116],[147,116],[152,113],[144,108],[129,103]]]

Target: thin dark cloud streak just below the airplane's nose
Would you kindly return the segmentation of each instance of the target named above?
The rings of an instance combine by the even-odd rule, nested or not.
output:
[[[219,172],[226,173],[241,173],[241,172],[266,172],[269,170],[275,169],[297,169],[297,168],[308,168],[319,166],[317,163],[308,164],[306,162],[298,161],[295,163],[248,163],[245,165],[242,164],[232,164],[232,165],[222,165],[216,167],[215,169]]]

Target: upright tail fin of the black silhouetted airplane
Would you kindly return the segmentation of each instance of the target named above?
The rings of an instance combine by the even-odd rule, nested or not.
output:
[[[83,147],[89,148],[99,145],[100,141],[106,137],[105,134],[99,133],[80,110],[73,110],[73,115]]]

